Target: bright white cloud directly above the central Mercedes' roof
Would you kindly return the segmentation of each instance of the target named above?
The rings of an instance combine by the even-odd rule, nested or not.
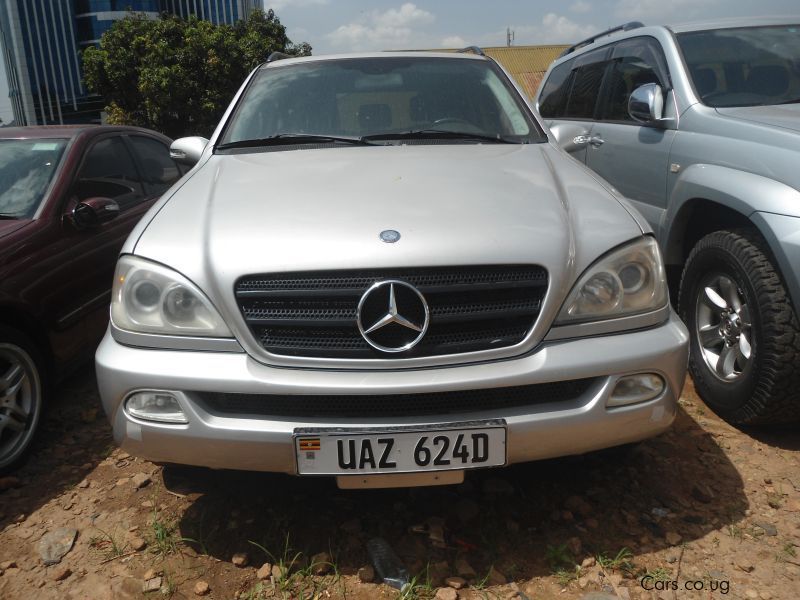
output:
[[[426,44],[428,38],[421,35],[420,29],[435,20],[433,13],[406,2],[400,8],[366,13],[325,37],[333,46],[345,50],[409,48],[420,43]]]

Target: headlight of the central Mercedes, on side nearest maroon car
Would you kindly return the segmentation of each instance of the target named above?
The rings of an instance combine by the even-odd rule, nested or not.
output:
[[[111,321],[139,333],[232,337],[197,286],[172,269],[135,256],[117,262]]]

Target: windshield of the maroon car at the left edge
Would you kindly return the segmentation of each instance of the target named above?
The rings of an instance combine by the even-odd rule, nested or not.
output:
[[[44,199],[68,140],[0,140],[0,215],[29,218]]]

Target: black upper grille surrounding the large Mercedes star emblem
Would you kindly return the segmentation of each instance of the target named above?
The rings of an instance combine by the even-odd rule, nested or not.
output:
[[[376,350],[358,330],[361,296],[387,279],[413,285],[430,310],[426,335],[406,352]],[[533,327],[546,291],[547,271],[535,265],[252,275],[235,287],[262,348],[320,358],[410,358],[512,346]],[[381,344],[403,345],[391,342],[389,331]]]

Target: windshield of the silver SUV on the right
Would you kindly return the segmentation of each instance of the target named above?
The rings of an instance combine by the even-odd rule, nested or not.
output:
[[[800,102],[800,25],[695,31],[677,37],[704,104]]]

